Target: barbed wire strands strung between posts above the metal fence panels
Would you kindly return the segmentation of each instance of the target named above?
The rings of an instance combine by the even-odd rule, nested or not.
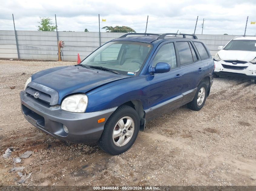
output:
[[[4,18],[0,25],[0,30],[14,30],[12,15],[2,16]],[[42,15],[51,18],[55,23],[55,15]],[[38,30],[38,15],[21,16],[14,15],[16,30]],[[197,21],[197,24],[196,24]],[[105,26],[128,26],[138,33],[145,33],[147,26],[148,33],[194,33],[195,34],[228,34],[228,35],[256,35],[256,18],[246,17],[157,17],[151,15],[95,15],[95,16],[75,16],[56,15],[58,31],[84,32],[85,28],[89,32],[106,32],[102,27]],[[246,27],[247,26],[247,27]]]

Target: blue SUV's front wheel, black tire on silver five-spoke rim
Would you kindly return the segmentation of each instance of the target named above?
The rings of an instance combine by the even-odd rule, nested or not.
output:
[[[128,126],[125,127],[128,122],[131,123],[130,126],[128,125],[129,128],[127,128]],[[120,124],[123,124],[123,126]],[[101,134],[101,138],[98,140],[98,145],[103,151],[111,155],[121,154],[131,148],[137,138],[139,127],[140,120],[138,113],[132,107],[122,105],[118,107],[115,112],[112,113],[112,115],[108,118],[107,122],[105,123],[104,130]],[[114,138],[114,133],[116,135],[119,135],[120,133],[120,136]],[[122,141],[124,145],[121,144]]]

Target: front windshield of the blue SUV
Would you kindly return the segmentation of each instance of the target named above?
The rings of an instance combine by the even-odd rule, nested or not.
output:
[[[138,75],[152,48],[151,44],[115,41],[107,43],[88,56],[82,65],[114,70],[123,75]],[[104,69],[105,68],[105,69]]]

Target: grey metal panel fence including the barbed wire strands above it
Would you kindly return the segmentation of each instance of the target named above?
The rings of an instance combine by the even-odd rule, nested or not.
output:
[[[56,31],[38,31],[37,15],[0,14],[0,58],[51,59],[60,55],[58,41],[65,41],[62,60],[76,60],[77,54],[85,58],[102,44],[120,37],[123,33],[107,33],[105,26],[127,26],[137,33],[188,33],[196,34],[214,55],[218,46],[225,45],[235,36],[256,36],[256,24],[250,17],[203,18],[156,17],[150,15],[43,15],[51,18]],[[1,19],[2,18],[2,19]],[[3,19],[4,18],[4,19]],[[89,32],[85,32],[87,29]],[[203,34],[203,35],[202,35]],[[226,35],[224,35],[226,34]],[[56,43],[57,42],[57,43]]]

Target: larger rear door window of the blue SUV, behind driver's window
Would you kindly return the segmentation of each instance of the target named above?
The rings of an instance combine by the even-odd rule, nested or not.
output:
[[[188,42],[177,42],[181,65],[194,62]]]

